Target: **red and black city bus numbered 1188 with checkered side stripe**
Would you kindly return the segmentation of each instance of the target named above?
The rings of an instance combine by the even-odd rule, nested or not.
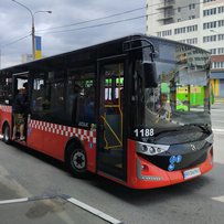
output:
[[[12,106],[24,83],[20,141]],[[188,109],[178,109],[180,89],[195,87],[200,104],[189,94]],[[177,184],[213,168],[210,88],[209,52],[128,35],[1,70],[0,131],[6,143],[61,160],[77,178],[96,173],[132,189]]]

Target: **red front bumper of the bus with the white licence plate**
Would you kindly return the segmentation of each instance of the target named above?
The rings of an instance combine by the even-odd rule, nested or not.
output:
[[[128,180],[127,180],[127,185],[132,189],[154,189],[181,183],[198,178],[209,172],[213,168],[212,147],[207,151],[207,157],[204,162],[188,169],[177,171],[168,171],[158,168],[157,166],[145,160],[143,158],[139,157],[136,153],[134,157],[135,157],[132,158],[134,160],[131,160],[131,158],[128,159],[128,161],[135,162],[128,163]]]

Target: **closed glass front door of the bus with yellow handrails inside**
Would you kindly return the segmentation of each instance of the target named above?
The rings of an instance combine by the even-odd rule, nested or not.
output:
[[[120,180],[126,180],[124,66],[125,61],[98,62],[97,169]]]

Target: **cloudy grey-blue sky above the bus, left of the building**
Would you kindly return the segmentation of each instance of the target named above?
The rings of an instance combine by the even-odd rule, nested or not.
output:
[[[34,14],[35,34],[42,36],[45,56],[146,32],[146,0],[17,1]],[[52,13],[38,12],[49,10]],[[31,28],[29,10],[12,0],[0,1],[1,68],[20,64],[22,54],[32,53]]]

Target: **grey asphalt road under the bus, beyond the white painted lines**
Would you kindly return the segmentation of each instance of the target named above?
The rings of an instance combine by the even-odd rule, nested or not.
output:
[[[63,194],[128,224],[223,224],[224,104],[213,106],[212,119],[214,169],[195,180],[156,190],[130,190],[96,175],[74,179],[61,162],[0,141],[0,201]],[[1,223],[6,222],[0,218]]]

